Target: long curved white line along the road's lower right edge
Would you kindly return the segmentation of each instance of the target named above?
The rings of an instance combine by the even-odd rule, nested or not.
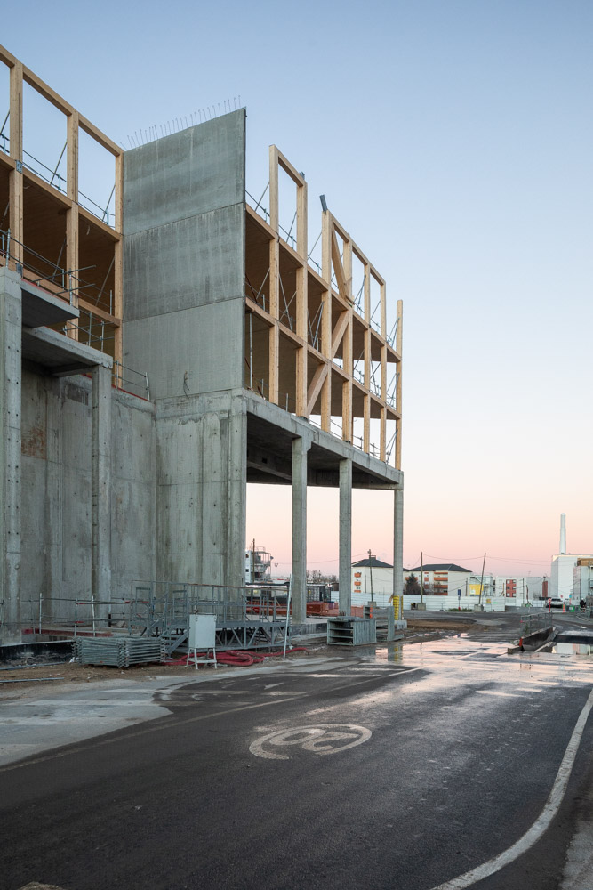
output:
[[[579,749],[582,733],[585,729],[585,724],[587,723],[587,717],[589,716],[591,708],[593,708],[593,690],[589,692],[589,698],[587,699],[585,707],[581,710],[579,719],[574,725],[573,735],[566,746],[565,756],[562,758],[562,763],[558,769],[552,790],[549,792],[549,798],[546,801],[546,805],[538,818],[533,822],[532,827],[528,831],[525,831],[523,837],[519,837],[517,843],[509,846],[508,850],[504,850],[502,853],[498,854],[498,856],[489,859],[488,862],[478,865],[477,868],[466,871],[465,874],[460,875],[459,878],[453,878],[451,881],[445,881],[445,884],[439,884],[437,887],[433,887],[432,890],[463,890],[464,887],[469,887],[472,884],[476,884],[477,881],[489,878],[494,872],[500,871],[505,865],[514,862],[519,856],[526,853],[527,850],[540,840],[544,832],[549,829],[549,824],[557,814],[562,799],[565,796],[566,786],[571,777],[571,773],[573,772],[574,758]]]

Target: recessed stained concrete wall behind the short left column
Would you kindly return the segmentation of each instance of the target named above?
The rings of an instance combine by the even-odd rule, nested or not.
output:
[[[111,595],[154,573],[154,408],[112,390]],[[21,608],[72,614],[60,600],[91,595],[92,384],[23,368],[21,401]],[[149,567],[149,569],[148,569]],[[52,610],[49,603],[52,602]]]

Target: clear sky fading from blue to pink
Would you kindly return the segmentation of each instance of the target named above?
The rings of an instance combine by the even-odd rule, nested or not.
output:
[[[562,511],[569,550],[593,550],[593,4],[39,9],[2,42],[116,142],[240,95],[248,188],[276,142],[404,299],[405,562],[540,574]],[[358,503],[353,552],[389,556],[390,503]],[[311,504],[313,565],[337,525],[332,495]],[[254,505],[249,536],[289,559]]]

